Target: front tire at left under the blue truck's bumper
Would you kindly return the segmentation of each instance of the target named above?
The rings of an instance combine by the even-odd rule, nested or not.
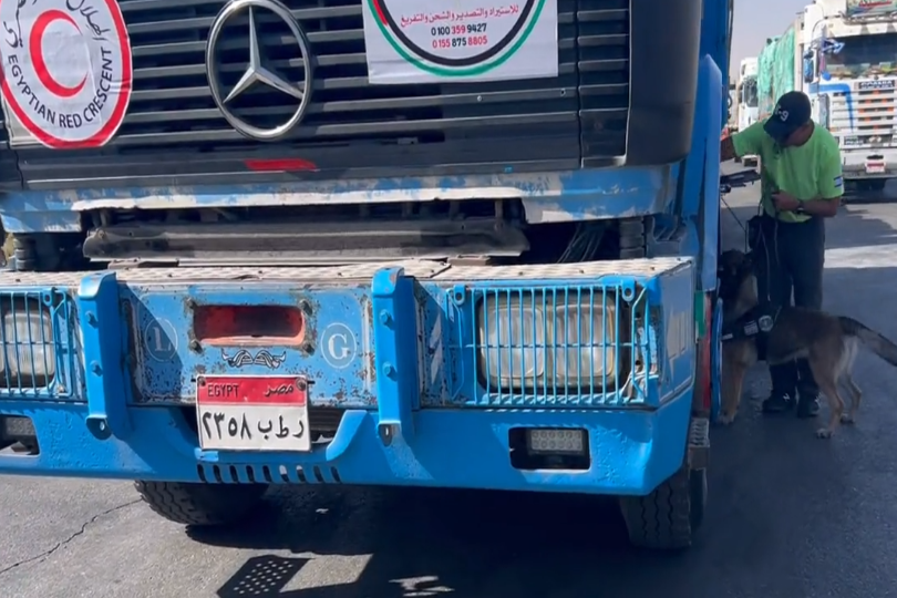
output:
[[[141,498],[169,522],[192,526],[230,525],[261,502],[267,484],[134,483]]]

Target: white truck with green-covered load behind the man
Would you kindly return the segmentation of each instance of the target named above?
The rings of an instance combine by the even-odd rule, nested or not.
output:
[[[842,148],[849,187],[881,189],[897,174],[897,2],[816,0],[760,55],[761,114],[791,90]]]

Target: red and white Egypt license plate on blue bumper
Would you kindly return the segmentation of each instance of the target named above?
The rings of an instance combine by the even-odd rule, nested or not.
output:
[[[196,380],[199,446],[215,451],[311,451],[308,384],[296,377]]]

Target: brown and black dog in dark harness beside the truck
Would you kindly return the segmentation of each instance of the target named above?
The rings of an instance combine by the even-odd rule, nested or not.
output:
[[[723,300],[723,328],[759,305],[756,278],[748,255],[736,249],[724,251],[719,262],[720,298]],[[798,307],[783,307],[775,312],[766,337],[766,362],[770,365],[806,358],[831,411],[828,425],[816,431],[828,439],[841,423],[853,423],[863,392],[850,377],[859,347],[897,367],[897,344],[865,324],[845,316]],[[722,347],[722,409],[719,421],[735,420],[742,384],[748,369],[757,361],[756,337],[734,338]],[[845,383],[850,408],[845,413],[838,384]]]

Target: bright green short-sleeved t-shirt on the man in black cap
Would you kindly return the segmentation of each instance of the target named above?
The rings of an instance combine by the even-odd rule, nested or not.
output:
[[[844,195],[838,142],[825,127],[816,125],[810,140],[798,147],[780,147],[763,131],[764,122],[756,122],[732,135],[735,154],[760,156],[761,203],[770,216],[775,217],[772,194],[785,192],[795,198],[834,199]],[[783,212],[779,219],[803,223],[811,216]]]

